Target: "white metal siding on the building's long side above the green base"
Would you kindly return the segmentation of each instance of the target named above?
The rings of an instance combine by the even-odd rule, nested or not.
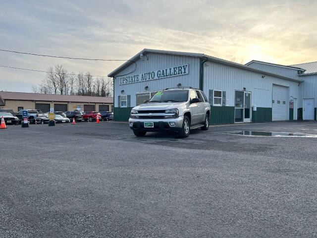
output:
[[[299,98],[297,82],[214,62],[204,63],[204,92],[209,89],[226,91],[229,106],[234,107],[235,90],[251,91],[251,104],[260,108],[272,108],[272,85],[290,87],[290,95]]]

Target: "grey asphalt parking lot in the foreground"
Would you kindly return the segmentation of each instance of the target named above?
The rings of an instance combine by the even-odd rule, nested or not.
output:
[[[317,122],[211,126],[186,139],[127,123],[0,130],[0,237],[317,237]]]

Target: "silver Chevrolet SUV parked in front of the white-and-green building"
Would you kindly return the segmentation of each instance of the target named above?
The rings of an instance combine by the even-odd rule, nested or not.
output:
[[[175,130],[187,137],[191,129],[208,130],[210,104],[199,89],[174,88],[158,91],[144,104],[131,110],[130,128],[136,136],[147,131]]]

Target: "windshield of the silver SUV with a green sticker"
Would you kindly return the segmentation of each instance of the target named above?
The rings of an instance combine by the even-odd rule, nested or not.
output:
[[[151,102],[186,102],[188,100],[188,90],[166,90],[157,92]]]

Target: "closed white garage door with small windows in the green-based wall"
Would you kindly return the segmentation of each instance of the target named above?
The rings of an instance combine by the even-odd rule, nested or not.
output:
[[[288,87],[273,85],[272,120],[288,120]]]

